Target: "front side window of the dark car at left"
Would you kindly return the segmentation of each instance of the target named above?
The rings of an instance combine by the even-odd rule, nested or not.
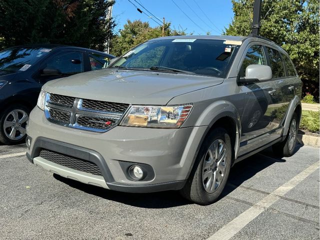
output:
[[[61,52],[51,57],[46,66],[58,69],[62,74],[75,74],[83,72],[83,57],[82,52],[68,51]]]

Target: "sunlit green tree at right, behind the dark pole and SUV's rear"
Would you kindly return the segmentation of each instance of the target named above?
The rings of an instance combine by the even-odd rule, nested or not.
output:
[[[232,0],[234,17],[227,35],[251,31],[254,0]],[[303,81],[303,91],[319,96],[318,0],[262,0],[260,35],[290,55]]]

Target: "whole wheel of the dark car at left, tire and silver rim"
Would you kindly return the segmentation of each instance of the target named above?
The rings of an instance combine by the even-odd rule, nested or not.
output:
[[[0,142],[8,145],[23,142],[29,113],[30,110],[21,104],[4,109],[0,116]]]

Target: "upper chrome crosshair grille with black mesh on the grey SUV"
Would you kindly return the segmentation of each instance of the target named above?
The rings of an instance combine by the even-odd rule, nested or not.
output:
[[[52,93],[46,93],[45,96],[45,116],[49,121],[97,132],[107,131],[117,125],[128,106]]]

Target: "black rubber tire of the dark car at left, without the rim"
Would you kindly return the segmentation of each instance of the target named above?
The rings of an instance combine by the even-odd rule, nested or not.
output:
[[[0,142],[3,144],[7,144],[7,145],[13,145],[13,144],[18,144],[18,143],[24,142],[24,139],[26,137],[26,134],[23,134],[23,136],[17,137],[17,139],[10,139],[4,132],[5,131],[4,130],[4,122],[7,118],[7,115],[13,110],[19,110],[19,113],[18,113],[19,117],[20,117],[20,114],[22,111],[24,111],[27,114],[27,117],[30,114],[30,109],[22,104],[11,105],[11,106],[5,108],[1,112],[1,115],[0,115]],[[25,128],[25,125],[26,125],[26,121],[21,123],[21,126],[24,128]],[[17,123],[16,126],[19,127],[20,126],[19,123]],[[6,130],[9,131],[10,128],[6,128]],[[18,134],[18,133],[19,133],[19,130],[17,129],[16,134]]]

